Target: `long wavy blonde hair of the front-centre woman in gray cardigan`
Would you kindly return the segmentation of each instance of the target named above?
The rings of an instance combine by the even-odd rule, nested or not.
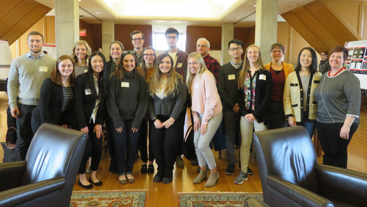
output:
[[[149,83],[148,92],[149,92],[149,95],[151,96],[156,94],[156,92],[158,92],[161,89],[159,86],[159,82],[161,81],[161,70],[159,70],[159,64],[165,57],[170,58],[171,70],[170,72],[168,72],[168,79],[167,79],[167,83],[165,84],[164,95],[166,97],[168,97],[169,95],[174,96],[174,91],[177,90],[177,86],[178,86],[177,79],[180,79],[181,81],[183,81],[181,75],[179,75],[176,72],[176,70],[174,70],[172,57],[168,55],[167,53],[162,53],[161,55],[159,55],[156,58],[156,63],[154,64],[154,71],[153,71],[152,76],[149,79],[147,79],[147,83]]]

